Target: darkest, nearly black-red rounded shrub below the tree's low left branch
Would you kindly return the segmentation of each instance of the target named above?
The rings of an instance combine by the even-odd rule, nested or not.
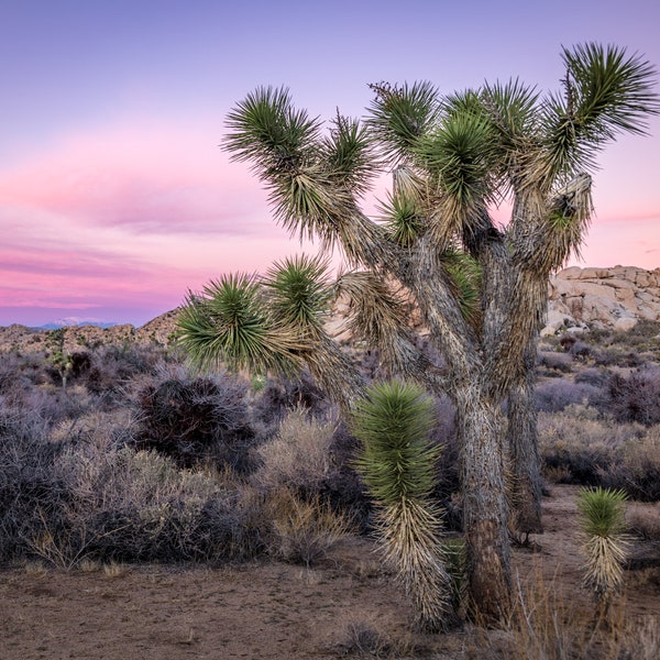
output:
[[[204,461],[252,469],[255,442],[246,386],[235,377],[166,369],[138,393],[136,449],[154,449],[189,468]]]

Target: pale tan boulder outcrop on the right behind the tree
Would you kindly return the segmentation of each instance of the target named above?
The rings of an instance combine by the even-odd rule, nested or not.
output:
[[[550,282],[542,334],[560,330],[629,330],[640,319],[660,320],[660,268],[571,267]]]

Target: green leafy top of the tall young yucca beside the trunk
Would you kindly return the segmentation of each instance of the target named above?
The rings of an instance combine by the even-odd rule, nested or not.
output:
[[[353,429],[363,443],[360,472],[376,499],[389,505],[428,497],[439,455],[429,439],[432,426],[432,402],[418,385],[392,381],[369,388]]]

